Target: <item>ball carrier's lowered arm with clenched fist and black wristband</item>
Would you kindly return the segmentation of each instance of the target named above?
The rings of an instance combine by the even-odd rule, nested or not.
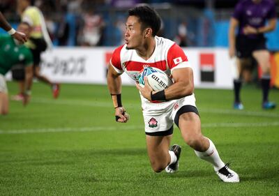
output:
[[[117,73],[110,63],[107,71],[107,88],[112,96],[112,103],[115,109],[117,122],[126,123],[129,119],[128,114],[121,102],[121,74]]]

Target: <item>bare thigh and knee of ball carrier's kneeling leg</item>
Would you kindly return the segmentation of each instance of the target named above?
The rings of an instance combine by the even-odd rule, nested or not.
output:
[[[172,135],[151,136],[146,135],[146,147],[151,165],[163,164],[165,167],[169,159],[169,144]]]

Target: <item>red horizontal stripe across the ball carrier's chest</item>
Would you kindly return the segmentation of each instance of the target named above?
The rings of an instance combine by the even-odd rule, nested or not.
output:
[[[153,67],[160,70],[167,70],[166,61],[157,61],[155,63],[143,63],[137,61],[127,61],[125,67],[128,71],[140,71],[144,67]]]

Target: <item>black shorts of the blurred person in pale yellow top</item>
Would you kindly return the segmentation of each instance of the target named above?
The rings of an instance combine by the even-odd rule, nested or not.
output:
[[[47,49],[47,43],[43,38],[30,38],[33,45],[35,45],[34,49],[31,49],[31,52],[33,54],[33,63],[34,66],[40,65],[40,54],[44,52]]]

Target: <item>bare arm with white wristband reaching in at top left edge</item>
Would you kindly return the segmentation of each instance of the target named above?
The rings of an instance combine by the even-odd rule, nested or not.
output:
[[[22,32],[15,31],[15,29],[13,29],[10,26],[10,24],[7,22],[7,20],[5,19],[1,11],[0,11],[0,27],[5,31],[7,31],[10,34],[10,36],[20,41],[20,43],[24,43],[27,41],[27,36]]]

